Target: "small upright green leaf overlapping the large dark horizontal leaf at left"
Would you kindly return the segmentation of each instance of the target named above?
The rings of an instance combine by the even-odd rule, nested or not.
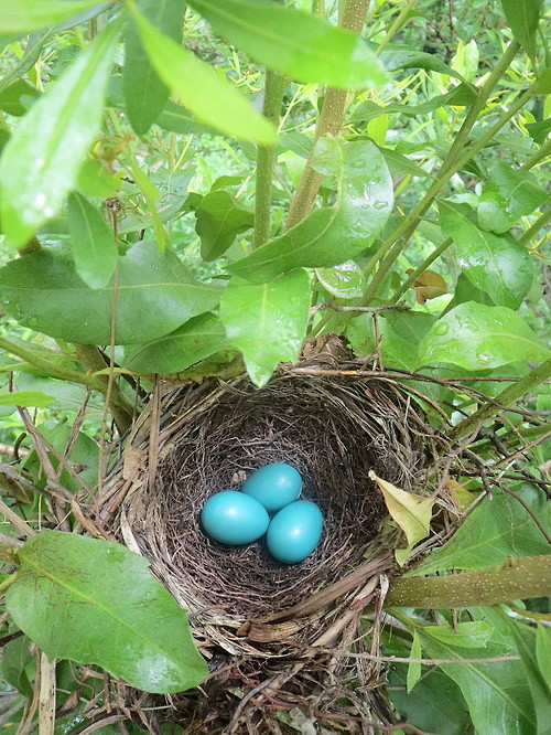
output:
[[[90,288],[104,288],[118,259],[112,230],[97,209],[76,192],[68,199],[68,220],[77,274]]]

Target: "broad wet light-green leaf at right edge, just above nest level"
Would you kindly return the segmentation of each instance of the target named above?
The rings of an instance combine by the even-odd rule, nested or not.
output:
[[[437,320],[419,345],[419,364],[447,362],[465,370],[519,360],[547,360],[550,350],[526,321],[506,307],[461,303]]]

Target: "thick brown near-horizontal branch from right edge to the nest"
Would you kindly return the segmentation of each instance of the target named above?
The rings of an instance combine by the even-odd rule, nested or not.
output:
[[[551,589],[551,557],[523,556],[505,564],[440,577],[399,577],[385,607],[439,610],[488,606],[545,597]]]

